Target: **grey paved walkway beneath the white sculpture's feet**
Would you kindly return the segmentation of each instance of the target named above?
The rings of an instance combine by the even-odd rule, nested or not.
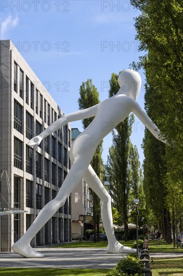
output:
[[[0,252],[0,267],[112,268],[121,256],[105,248],[37,248],[43,258],[24,258],[14,252]],[[183,257],[183,253],[151,253],[153,257]]]

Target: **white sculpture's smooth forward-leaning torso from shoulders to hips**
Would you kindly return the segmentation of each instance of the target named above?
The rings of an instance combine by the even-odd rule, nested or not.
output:
[[[92,122],[76,138],[70,149],[73,157],[81,153],[94,154],[100,141],[131,112],[133,99],[115,95],[102,101]]]

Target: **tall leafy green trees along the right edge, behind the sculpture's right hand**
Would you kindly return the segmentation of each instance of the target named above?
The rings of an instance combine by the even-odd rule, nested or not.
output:
[[[141,11],[135,19],[136,39],[139,50],[147,52],[133,66],[145,71],[145,107],[169,145],[160,145],[146,131],[144,192],[170,241],[165,230],[170,229],[169,216],[174,233],[183,215],[183,5],[178,0],[130,2]]]

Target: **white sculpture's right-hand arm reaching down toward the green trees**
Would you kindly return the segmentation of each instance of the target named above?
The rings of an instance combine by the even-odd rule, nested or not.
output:
[[[141,109],[139,104],[134,101],[132,106],[132,112],[138,117],[138,119],[146,126],[146,128],[153,134],[153,136],[159,141],[166,144],[166,139],[160,134],[160,130],[152,122],[149,116]]]

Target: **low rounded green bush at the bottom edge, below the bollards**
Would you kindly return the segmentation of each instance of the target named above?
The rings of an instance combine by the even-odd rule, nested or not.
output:
[[[138,276],[142,271],[141,261],[139,258],[127,255],[125,259],[120,260],[117,265],[111,269],[106,275],[107,276],[118,276],[118,275],[130,275]]]

